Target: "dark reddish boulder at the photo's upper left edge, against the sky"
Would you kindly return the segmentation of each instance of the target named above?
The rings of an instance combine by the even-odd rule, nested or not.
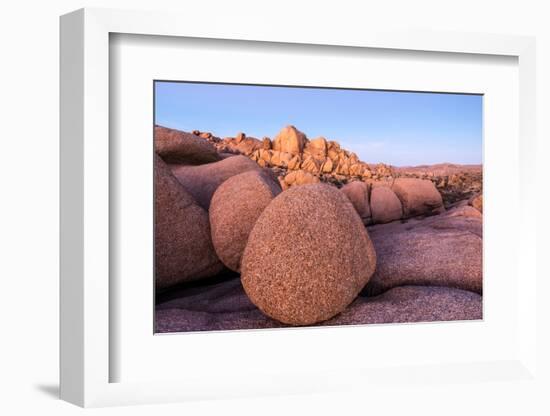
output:
[[[155,152],[166,163],[201,165],[221,159],[208,140],[162,126],[155,126]]]

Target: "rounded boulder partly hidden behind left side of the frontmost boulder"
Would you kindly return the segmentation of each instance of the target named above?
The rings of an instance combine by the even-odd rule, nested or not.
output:
[[[281,192],[266,171],[249,171],[222,183],[210,203],[212,242],[220,260],[239,271],[248,235],[271,200]]]

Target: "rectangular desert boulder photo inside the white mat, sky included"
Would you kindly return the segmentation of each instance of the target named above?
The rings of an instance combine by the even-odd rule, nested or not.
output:
[[[155,333],[483,319],[483,95],[155,80]]]

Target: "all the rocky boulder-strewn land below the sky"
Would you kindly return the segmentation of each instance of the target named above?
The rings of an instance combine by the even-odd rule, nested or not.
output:
[[[155,126],[156,332],[482,319],[481,165]]]

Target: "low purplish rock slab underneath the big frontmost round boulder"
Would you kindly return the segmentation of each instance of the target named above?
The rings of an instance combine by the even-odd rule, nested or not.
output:
[[[234,278],[176,292],[156,307],[156,332],[285,328],[264,315]],[[403,286],[380,296],[358,297],[342,313],[318,325],[361,325],[482,319],[477,293],[447,287]]]

